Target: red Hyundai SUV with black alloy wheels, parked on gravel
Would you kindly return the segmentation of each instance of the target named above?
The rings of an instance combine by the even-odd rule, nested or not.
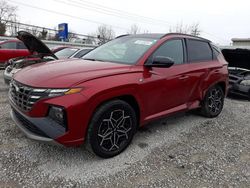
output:
[[[227,62],[210,41],[183,34],[125,35],[83,59],[36,64],[10,84],[12,118],[35,140],[112,157],[138,127],[179,111],[216,117],[228,87]]]

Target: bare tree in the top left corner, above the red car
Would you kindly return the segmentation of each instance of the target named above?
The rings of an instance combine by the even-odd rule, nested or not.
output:
[[[9,5],[5,0],[0,0],[0,35],[4,35],[7,24],[16,18],[17,7]]]

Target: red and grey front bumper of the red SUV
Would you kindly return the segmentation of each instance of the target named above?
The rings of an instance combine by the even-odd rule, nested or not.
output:
[[[9,96],[12,119],[18,127],[22,127],[21,130],[29,138],[48,142],[54,140],[65,146],[79,146],[85,140],[91,117],[90,107],[86,105],[85,101],[86,97],[81,93],[45,98],[37,101],[30,111],[24,112]],[[50,106],[60,106],[65,109],[66,127],[48,117]],[[37,129],[42,134],[37,132]]]

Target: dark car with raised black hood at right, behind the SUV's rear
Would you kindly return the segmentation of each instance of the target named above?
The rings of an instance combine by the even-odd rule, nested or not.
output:
[[[229,94],[250,100],[250,49],[223,49],[228,62]]]

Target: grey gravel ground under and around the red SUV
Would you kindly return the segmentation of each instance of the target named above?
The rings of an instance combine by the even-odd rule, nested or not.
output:
[[[27,139],[12,122],[0,71],[0,187],[250,187],[250,102],[226,99],[218,118],[179,114],[140,129],[101,159],[84,147]]]

